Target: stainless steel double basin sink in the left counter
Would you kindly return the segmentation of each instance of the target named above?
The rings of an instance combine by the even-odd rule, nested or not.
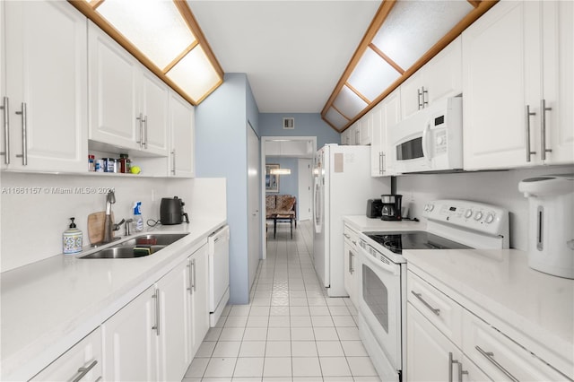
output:
[[[178,239],[184,238],[186,235],[187,233],[140,235],[80,258],[134,258],[150,256],[178,241]]]

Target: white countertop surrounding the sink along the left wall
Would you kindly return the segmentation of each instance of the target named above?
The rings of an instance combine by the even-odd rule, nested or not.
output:
[[[89,253],[84,250],[76,256],[53,256],[0,273],[1,379],[33,377],[38,368],[46,366],[159,280],[191,255],[190,247],[201,247],[207,236],[225,223],[191,219],[189,224],[146,230],[145,233],[188,233],[152,256],[80,259]]]

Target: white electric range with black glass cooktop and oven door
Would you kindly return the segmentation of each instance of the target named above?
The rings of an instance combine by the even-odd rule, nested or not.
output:
[[[502,208],[461,200],[438,200],[425,205],[424,216],[428,220],[426,231],[360,234],[359,333],[384,381],[402,380],[406,369],[403,250],[509,247],[509,213]]]

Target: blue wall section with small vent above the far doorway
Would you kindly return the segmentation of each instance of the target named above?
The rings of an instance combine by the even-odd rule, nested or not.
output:
[[[283,129],[283,117],[294,117],[295,128]],[[341,135],[321,119],[319,113],[261,113],[260,136],[317,136],[317,149],[326,143],[340,143]]]

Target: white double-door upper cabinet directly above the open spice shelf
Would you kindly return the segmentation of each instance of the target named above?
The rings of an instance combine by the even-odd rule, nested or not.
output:
[[[168,86],[89,22],[90,139],[168,155]]]

